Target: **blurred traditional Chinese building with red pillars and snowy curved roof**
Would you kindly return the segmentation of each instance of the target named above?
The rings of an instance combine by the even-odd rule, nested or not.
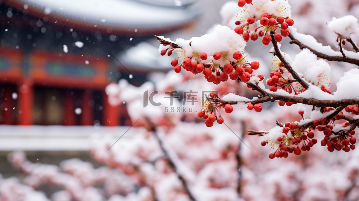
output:
[[[144,40],[190,25],[193,1],[4,0],[0,124],[129,125],[125,104],[109,105],[104,88],[170,68]]]

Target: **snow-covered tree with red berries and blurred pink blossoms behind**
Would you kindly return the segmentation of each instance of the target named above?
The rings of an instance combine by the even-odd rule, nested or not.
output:
[[[358,53],[352,50],[356,47],[353,41],[358,39],[357,25],[352,16],[340,18],[355,15],[358,3],[289,3],[292,8],[285,0],[228,2],[221,10],[222,26],[212,33],[190,40],[159,37],[163,43],[159,52],[177,53],[178,61],[171,64],[179,67],[167,75],[153,74],[152,82],[140,87],[125,80],[107,87],[110,104],[126,102],[132,124],[138,121],[131,128],[135,134],[127,133],[111,149],[117,139],[107,135],[93,139],[92,156],[106,166],[94,169],[87,162],[70,159],[57,167],[31,163],[22,152],[14,152],[9,154],[9,161],[28,176],[24,184],[1,178],[0,199],[47,200],[34,190],[55,185],[63,190],[55,192],[52,201],[358,200],[359,152],[350,150],[358,122]],[[331,21],[332,16],[338,19]],[[281,20],[288,29],[281,29]],[[303,33],[320,35],[316,38],[332,47],[298,33],[294,26]],[[250,42],[259,37],[264,44]],[[284,43],[288,38],[303,49],[294,60],[290,58],[295,55],[293,51],[281,51],[288,47]],[[248,54],[245,47],[251,43],[261,43],[261,47]],[[265,46],[270,43],[273,47]],[[271,48],[270,66],[264,62],[268,55],[256,53],[265,48]],[[270,68],[272,73],[268,72]],[[208,82],[197,75],[200,72]],[[268,75],[269,89],[263,83]],[[329,88],[336,88],[336,92]],[[171,106],[161,96],[174,90],[218,94],[211,93],[203,104],[199,96],[194,105],[174,99]],[[158,91],[153,100],[162,105],[144,107],[146,91]],[[264,104],[272,101],[279,104],[270,108]],[[313,105],[319,107],[312,111]],[[177,112],[177,107],[183,106],[187,112],[182,108]],[[166,113],[166,107],[176,111]],[[246,136],[246,130],[259,137]],[[312,146],[314,139],[327,148]],[[267,142],[270,146],[261,146]],[[350,152],[334,151],[339,149],[337,145]],[[271,160],[270,151],[271,158],[282,158]]]

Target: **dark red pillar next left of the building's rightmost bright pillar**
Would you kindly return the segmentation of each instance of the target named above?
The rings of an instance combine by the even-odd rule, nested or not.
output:
[[[82,95],[82,113],[80,115],[81,125],[93,125],[94,111],[93,107],[90,106],[92,100],[92,92],[85,90]]]

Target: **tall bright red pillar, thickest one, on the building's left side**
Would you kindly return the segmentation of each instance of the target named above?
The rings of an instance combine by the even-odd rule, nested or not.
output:
[[[23,80],[18,86],[18,124],[33,124],[34,87],[31,80]],[[16,108],[15,108],[16,109]]]

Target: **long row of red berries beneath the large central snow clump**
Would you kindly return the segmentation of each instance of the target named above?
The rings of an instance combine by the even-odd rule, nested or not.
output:
[[[221,54],[219,52],[216,52],[213,54],[213,58],[215,60],[219,60],[221,58]],[[205,52],[200,53],[201,60],[207,59],[207,54]],[[233,58],[237,60],[237,62],[233,62],[234,66],[238,66],[237,64],[241,62],[241,66],[243,67],[236,67],[235,71],[233,71],[233,66],[231,63],[225,64],[223,66],[223,70],[219,67],[204,67],[202,63],[197,62],[191,62],[190,58],[183,59],[180,66],[178,66],[178,60],[173,59],[171,61],[171,65],[174,66],[174,71],[176,73],[181,72],[181,66],[186,69],[186,71],[191,71],[193,74],[197,75],[197,73],[202,72],[204,77],[208,82],[213,82],[214,84],[218,85],[220,82],[225,82],[228,80],[228,77],[231,80],[237,80],[238,77],[243,82],[248,82],[251,78],[251,74],[253,73],[253,70],[257,70],[259,68],[259,62],[253,61],[252,63],[246,63],[243,61],[238,61],[242,58],[241,52],[234,52]],[[264,79],[263,75],[258,75],[260,80]]]

